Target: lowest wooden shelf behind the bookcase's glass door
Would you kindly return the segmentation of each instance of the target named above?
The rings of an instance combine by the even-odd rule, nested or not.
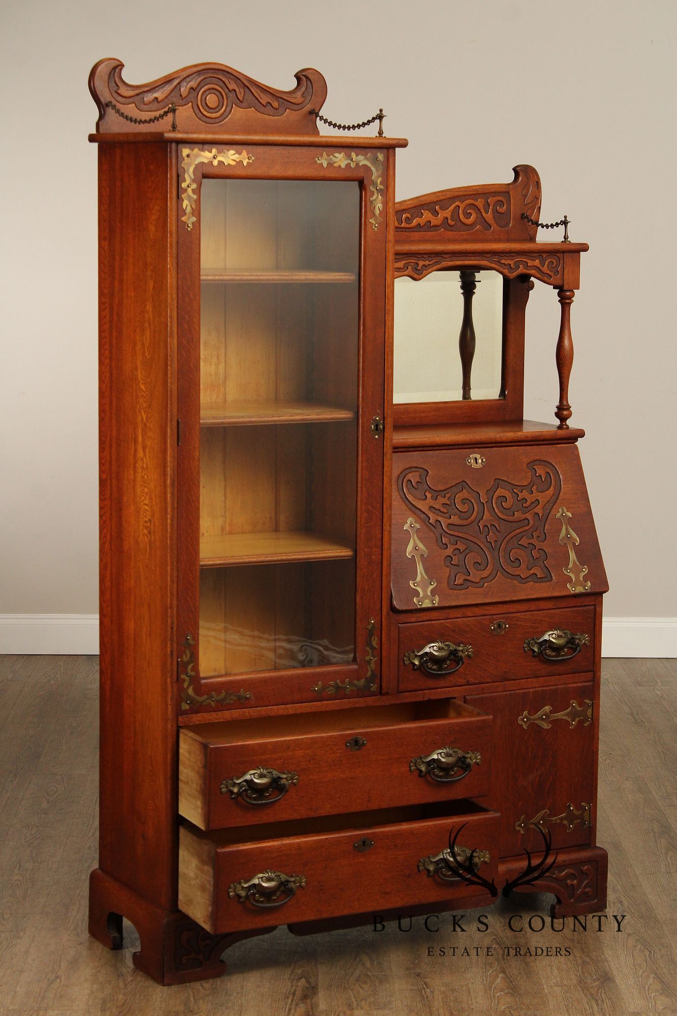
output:
[[[200,539],[200,567],[331,561],[354,557],[344,544],[314,532],[234,532]]]

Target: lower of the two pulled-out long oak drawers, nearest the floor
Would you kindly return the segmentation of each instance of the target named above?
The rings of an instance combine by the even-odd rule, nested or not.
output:
[[[467,802],[344,816],[343,826],[318,819],[308,835],[268,838],[279,828],[206,835],[182,827],[180,909],[219,935],[428,901],[461,905],[484,892],[491,898],[438,856],[457,832],[456,858],[495,878],[498,814]]]

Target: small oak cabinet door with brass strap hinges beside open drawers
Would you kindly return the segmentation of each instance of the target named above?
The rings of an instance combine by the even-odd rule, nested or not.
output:
[[[542,691],[478,695],[494,714],[495,766],[489,804],[500,805],[500,853],[543,850],[536,824],[554,848],[591,841],[595,786],[592,679]]]

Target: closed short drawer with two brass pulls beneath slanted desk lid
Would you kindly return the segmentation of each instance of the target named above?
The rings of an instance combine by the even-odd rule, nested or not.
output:
[[[454,617],[398,626],[401,692],[593,669],[595,608]]]

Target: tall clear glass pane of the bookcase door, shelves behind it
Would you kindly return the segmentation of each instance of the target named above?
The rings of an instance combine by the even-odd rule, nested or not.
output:
[[[355,657],[359,228],[357,183],[202,183],[202,677]]]

